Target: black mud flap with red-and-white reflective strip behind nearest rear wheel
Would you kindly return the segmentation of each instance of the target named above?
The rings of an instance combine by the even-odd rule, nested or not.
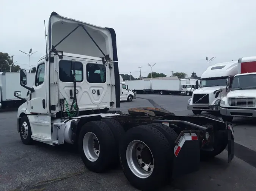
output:
[[[195,133],[184,133],[174,147],[172,178],[198,171],[199,163],[200,143],[198,137]]]

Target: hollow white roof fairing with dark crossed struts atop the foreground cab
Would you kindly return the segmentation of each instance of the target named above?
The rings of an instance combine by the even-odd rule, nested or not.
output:
[[[114,29],[63,17],[56,12],[52,12],[49,18],[48,49],[55,53],[63,51],[118,60]]]

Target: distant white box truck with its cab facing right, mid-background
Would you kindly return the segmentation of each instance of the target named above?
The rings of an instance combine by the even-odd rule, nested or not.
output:
[[[152,91],[159,94],[186,94],[192,95],[190,84],[186,84],[186,79],[160,79],[152,80]]]

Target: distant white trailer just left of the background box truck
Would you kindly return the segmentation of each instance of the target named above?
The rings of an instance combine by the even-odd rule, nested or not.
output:
[[[135,94],[145,94],[151,92],[151,80],[130,80],[125,81],[126,85],[129,85],[130,89],[135,92]]]

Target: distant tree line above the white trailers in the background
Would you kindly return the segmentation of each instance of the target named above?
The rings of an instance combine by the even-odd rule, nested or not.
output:
[[[141,78],[140,77],[135,78],[132,76],[132,74],[131,75],[120,74],[120,75],[123,77],[123,80],[125,80],[125,81],[126,80],[140,80],[140,79],[144,79],[144,78],[151,78],[151,72],[146,77],[141,76]],[[184,79],[184,78],[188,77],[188,75],[185,72],[175,72],[171,76],[177,76],[179,79]],[[159,78],[159,77],[167,77],[167,75],[163,74],[163,73],[152,72],[152,78]],[[196,72],[192,72],[191,77],[197,77]]]

